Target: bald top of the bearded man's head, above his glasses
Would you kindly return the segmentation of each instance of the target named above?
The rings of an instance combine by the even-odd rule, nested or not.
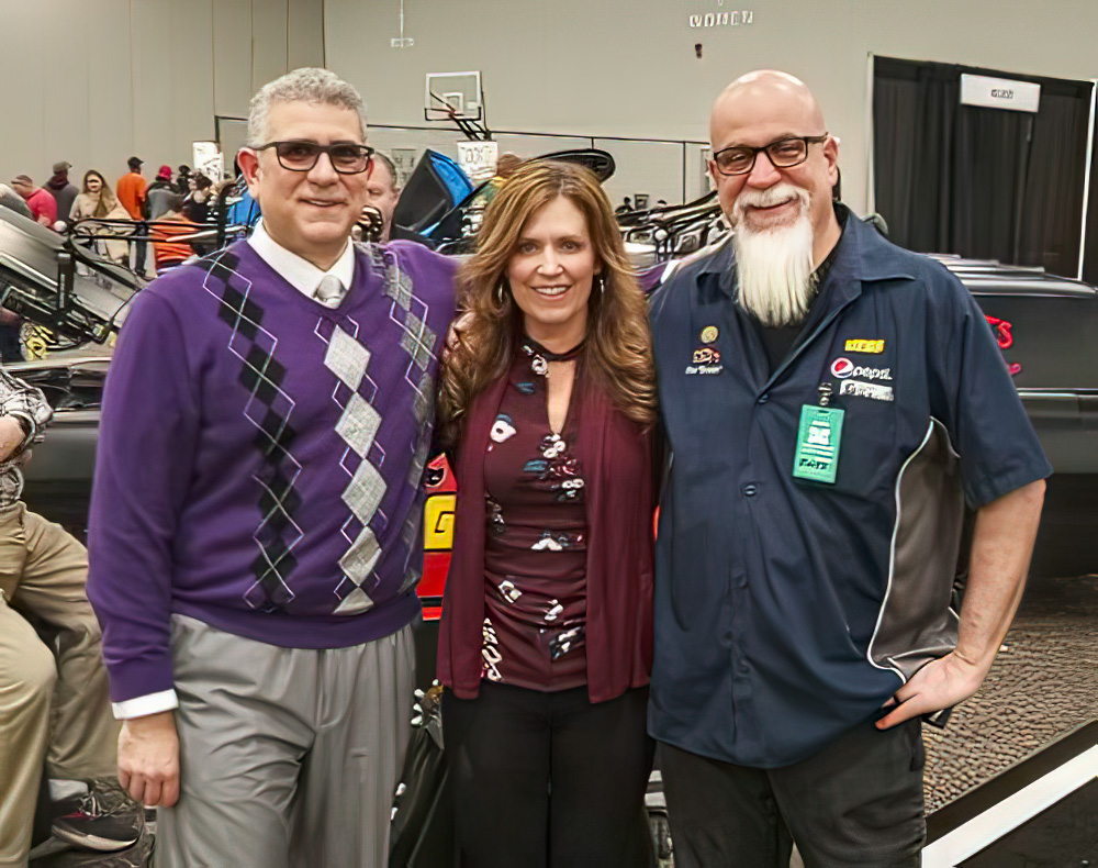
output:
[[[776,69],[757,69],[740,76],[726,87],[713,103],[709,114],[709,142],[715,151],[727,147],[720,141],[729,125],[797,124],[781,135],[819,135],[825,131],[824,112],[816,98],[799,78]]]

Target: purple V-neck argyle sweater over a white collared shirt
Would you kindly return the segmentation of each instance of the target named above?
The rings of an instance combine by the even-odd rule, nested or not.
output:
[[[360,245],[330,310],[240,242],[142,290],[91,498],[88,596],[114,701],[172,687],[172,613],[294,648],[416,615],[453,274],[418,245]]]

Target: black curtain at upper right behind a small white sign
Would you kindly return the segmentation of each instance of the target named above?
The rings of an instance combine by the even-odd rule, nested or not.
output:
[[[1041,85],[1040,110],[961,104],[961,74]],[[926,253],[1079,266],[1089,81],[874,58],[876,210]]]

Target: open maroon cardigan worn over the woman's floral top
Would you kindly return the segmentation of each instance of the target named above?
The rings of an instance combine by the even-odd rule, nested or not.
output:
[[[480,691],[484,455],[506,388],[504,376],[473,400],[457,450],[438,678],[460,699]],[[652,671],[652,444],[597,387],[589,385],[581,400],[576,454],[587,503],[587,695],[605,702],[647,685]]]

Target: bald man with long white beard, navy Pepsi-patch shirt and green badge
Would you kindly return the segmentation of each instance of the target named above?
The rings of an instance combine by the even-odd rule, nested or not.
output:
[[[1010,624],[1051,466],[955,277],[833,202],[808,88],[717,98],[733,234],[652,298],[669,444],[649,731],[679,868],[919,865],[921,721]],[[950,608],[964,503],[970,579]]]

